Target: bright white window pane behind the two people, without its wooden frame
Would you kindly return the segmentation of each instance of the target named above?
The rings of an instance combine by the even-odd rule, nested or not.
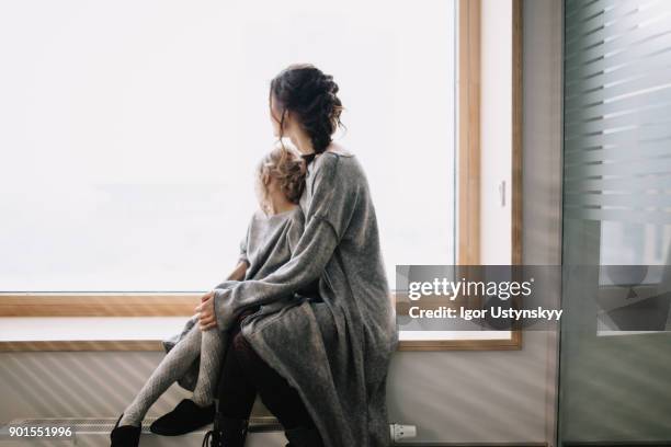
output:
[[[3,2],[0,58],[2,291],[217,284],[297,61],[340,84],[391,285],[454,263],[454,1]]]

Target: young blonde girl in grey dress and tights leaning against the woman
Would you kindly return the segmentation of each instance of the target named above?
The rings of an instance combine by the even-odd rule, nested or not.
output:
[[[303,211],[297,204],[305,187],[305,173],[303,159],[284,148],[272,150],[261,160],[257,171],[257,195],[261,210],[252,216],[247,236],[240,244],[238,265],[228,280],[215,288],[263,278],[291,259],[303,233]],[[247,309],[244,316],[252,311],[270,311],[271,307],[277,306],[282,306],[282,301]],[[202,330],[197,321],[198,316],[195,314],[179,335],[163,341],[168,353],[116,422],[110,435],[112,447],[138,445],[147,411],[175,381],[193,391],[193,397],[182,400],[172,412],[157,420],[151,431],[174,436],[213,421],[216,385],[227,347],[227,329]]]

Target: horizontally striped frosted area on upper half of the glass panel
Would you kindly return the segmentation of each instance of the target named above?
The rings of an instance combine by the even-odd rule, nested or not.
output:
[[[565,217],[671,224],[671,2],[565,8]]]

